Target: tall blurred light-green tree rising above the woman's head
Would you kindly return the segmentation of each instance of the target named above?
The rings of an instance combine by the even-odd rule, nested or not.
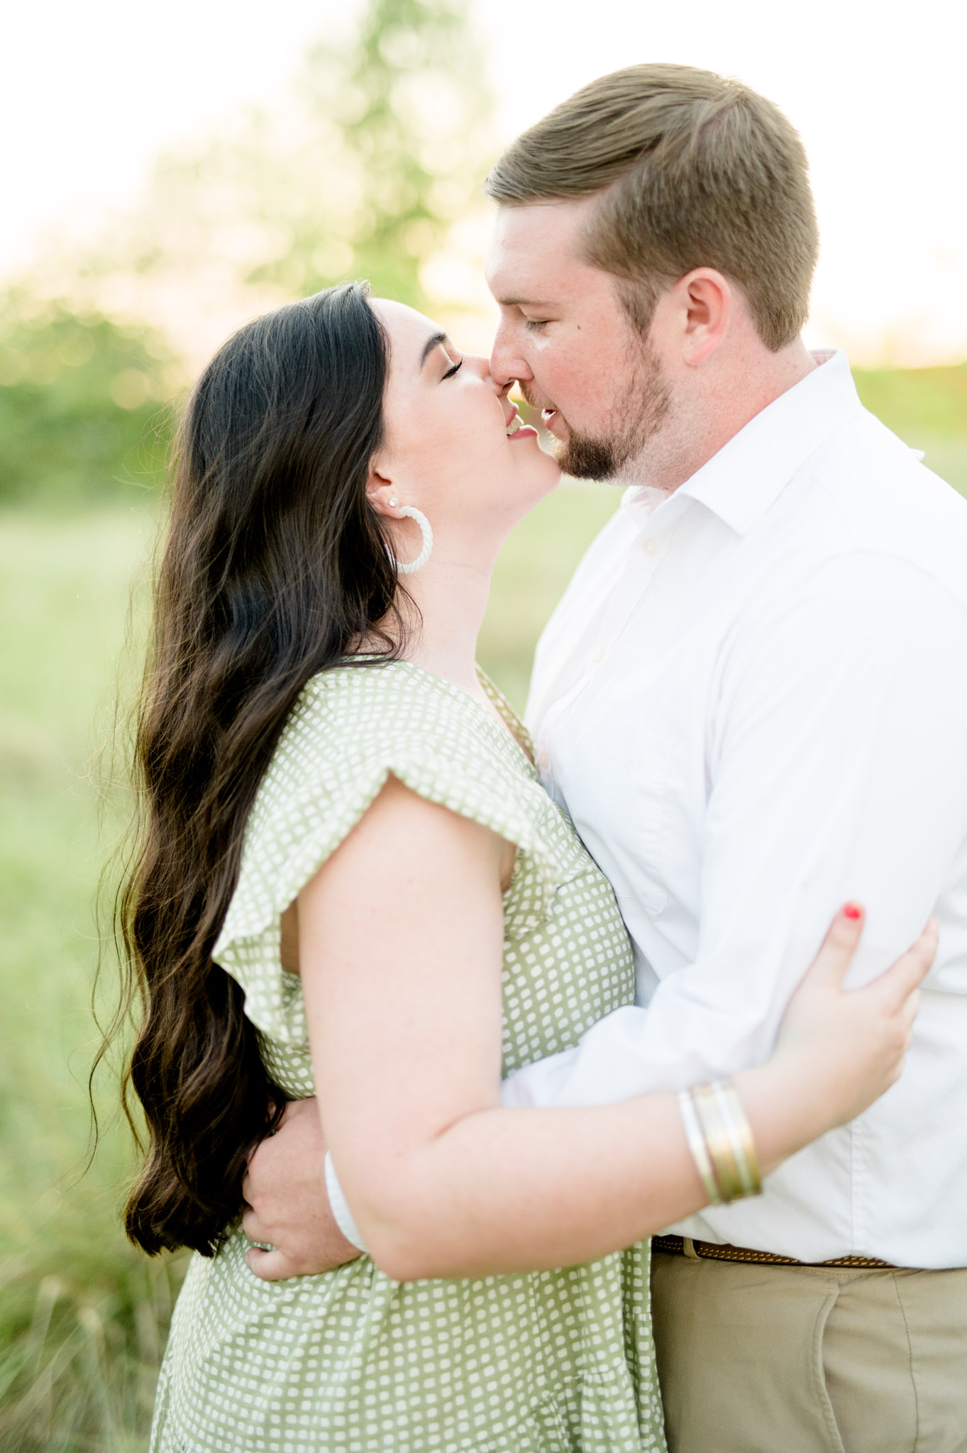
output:
[[[421,263],[479,205],[492,144],[492,99],[466,6],[372,0],[348,54],[319,46],[309,57],[302,96],[308,126],[286,218],[292,241],[251,280],[298,279],[311,292],[363,276],[376,292],[425,307]],[[299,185],[309,154],[338,170],[334,195],[324,177],[318,190]]]

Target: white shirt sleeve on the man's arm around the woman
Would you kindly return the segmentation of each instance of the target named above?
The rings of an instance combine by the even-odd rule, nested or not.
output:
[[[849,899],[867,924],[848,985],[910,946],[967,830],[961,603],[891,556],[823,564],[725,642],[706,774],[694,962],[648,1008],[510,1077],[505,1104],[607,1103],[759,1064]],[[963,978],[941,953],[928,984],[966,992]]]

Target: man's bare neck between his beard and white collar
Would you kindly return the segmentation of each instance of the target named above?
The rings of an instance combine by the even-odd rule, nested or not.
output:
[[[672,405],[669,426],[648,442],[633,472],[635,484],[649,484],[666,494],[691,479],[756,414],[800,384],[817,368],[801,339],[780,353],[755,355],[723,371],[704,394],[681,408]]]

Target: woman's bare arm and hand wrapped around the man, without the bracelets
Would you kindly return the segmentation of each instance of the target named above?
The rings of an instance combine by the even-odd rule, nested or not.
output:
[[[299,895],[325,1138],[398,1280],[587,1261],[706,1203],[674,1096],[499,1109],[505,865],[499,837],[391,782]],[[899,1072],[926,950],[842,994],[858,927],[832,940],[786,1046],[735,1080],[764,1173]]]

